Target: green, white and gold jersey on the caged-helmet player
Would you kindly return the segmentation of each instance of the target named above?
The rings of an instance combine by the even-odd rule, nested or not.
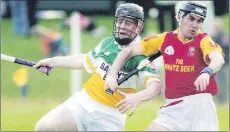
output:
[[[106,75],[121,50],[122,47],[113,37],[110,37],[103,39],[96,48],[87,53],[84,59],[86,71],[94,74],[83,87],[89,96],[105,105],[115,106],[118,101],[123,99],[123,96],[118,92],[115,92],[113,95],[106,95],[104,92],[104,80],[106,79]],[[145,56],[134,56],[130,58],[118,72],[117,79],[121,79],[128,74],[128,72],[134,70],[144,59],[146,59]],[[135,92],[139,80],[145,85],[148,85],[151,81],[160,81],[159,75],[156,74],[156,70],[150,66],[146,66],[137,74],[119,85],[118,89],[128,93]]]

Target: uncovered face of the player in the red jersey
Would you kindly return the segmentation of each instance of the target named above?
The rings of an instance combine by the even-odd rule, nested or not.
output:
[[[193,39],[201,29],[204,19],[202,17],[187,14],[181,21],[181,32],[185,39]]]

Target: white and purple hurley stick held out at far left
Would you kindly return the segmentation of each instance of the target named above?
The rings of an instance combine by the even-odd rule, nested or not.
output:
[[[10,61],[13,63],[17,63],[20,65],[25,65],[25,66],[29,66],[29,67],[33,67],[35,65],[35,63],[32,61],[24,60],[21,58],[16,58],[16,57],[5,55],[5,54],[1,54],[1,60]],[[49,67],[49,66],[44,66],[44,67],[48,69],[47,72],[45,73],[48,76],[52,67]],[[40,67],[38,67],[37,69],[39,69],[39,68]]]

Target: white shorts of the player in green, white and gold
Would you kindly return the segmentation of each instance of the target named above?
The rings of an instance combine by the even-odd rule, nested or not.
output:
[[[84,89],[63,104],[72,111],[78,131],[124,131],[126,115],[92,99]]]

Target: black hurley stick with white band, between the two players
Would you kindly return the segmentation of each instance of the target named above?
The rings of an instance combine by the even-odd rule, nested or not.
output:
[[[143,60],[136,69],[134,69],[133,71],[129,72],[127,75],[125,75],[123,78],[121,78],[120,80],[118,80],[118,85],[122,84],[124,81],[128,80],[131,76],[133,76],[134,74],[136,74],[139,70],[141,70],[142,68],[144,68],[145,66],[147,66],[150,62],[152,62],[153,60],[155,60],[156,58],[158,58],[159,56],[161,56],[161,53],[158,52],[157,54],[154,54],[148,58],[146,58],[145,60]],[[107,94],[112,95],[114,92],[108,88],[105,90],[105,92]]]

